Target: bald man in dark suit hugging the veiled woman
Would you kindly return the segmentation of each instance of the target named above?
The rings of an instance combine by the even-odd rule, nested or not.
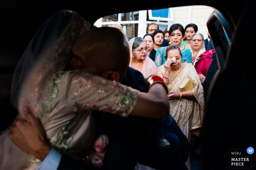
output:
[[[109,37],[108,35],[115,36]],[[106,41],[104,41],[103,44],[98,43],[98,41],[96,41],[97,38],[95,38],[97,36],[101,38],[103,36],[103,38],[106,38]],[[129,54],[129,48],[127,47],[127,39],[124,39],[123,33],[117,31],[117,29],[107,27],[93,29],[91,32],[82,36],[72,48],[75,56],[71,60],[68,68],[90,71],[94,74],[119,81],[123,79],[121,83],[142,92],[147,92],[147,84],[142,74],[132,68],[128,68],[127,70],[127,67],[123,65],[128,65],[129,62],[129,55],[127,55]],[[109,66],[110,63],[113,63],[112,66]],[[151,89],[153,87],[151,87]],[[157,88],[162,87],[159,86]],[[160,93],[157,95],[160,95]],[[157,96],[153,99],[156,100]],[[140,112],[149,114],[149,111],[146,111],[144,107],[145,104],[140,104],[144,109],[144,112]],[[23,143],[21,142],[22,146],[15,143],[17,141],[13,141],[15,135],[12,136],[12,141],[17,146],[23,148],[28,147],[28,150],[33,146],[33,143],[35,143],[36,146],[33,147],[40,150],[40,152],[36,152],[37,156],[39,154],[43,160],[38,170],[90,169],[89,167],[84,167],[81,162],[57,153],[54,149],[46,149],[45,153],[47,154],[44,154],[44,149],[47,145],[45,146],[45,141],[42,141],[44,138],[38,140],[38,136],[42,137],[44,134],[42,127],[38,119],[33,118],[33,114],[31,114],[29,110],[25,110],[25,112],[27,112],[27,116],[32,116],[30,120],[33,121],[33,123],[26,124],[26,127],[16,127],[16,123],[22,121],[16,120],[12,129],[18,128],[19,130],[14,131],[17,133],[19,131],[26,131],[22,129],[25,128],[30,131],[30,135],[28,135],[28,133],[23,133],[22,135],[16,134],[16,136],[19,136],[18,140],[23,140]],[[159,114],[161,111],[158,110],[156,112]],[[169,116],[163,120],[165,124],[164,137],[172,143],[172,146],[166,150],[155,148],[155,142],[162,137],[161,119],[157,120],[136,116],[122,118],[118,115],[100,111],[93,111],[92,115],[94,116],[96,128],[98,127],[96,129],[97,133],[106,134],[110,138],[110,145],[100,169],[133,170],[137,162],[152,166],[156,169],[170,169],[170,167],[171,169],[172,167],[173,169],[186,169],[185,161],[189,154],[189,142],[171,115],[168,114]],[[42,142],[44,144],[42,144]],[[34,154],[34,152],[34,148],[31,149],[31,153]]]

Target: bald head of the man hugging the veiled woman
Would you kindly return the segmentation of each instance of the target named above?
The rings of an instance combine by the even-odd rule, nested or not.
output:
[[[106,71],[116,71],[120,78],[123,78],[129,65],[128,40],[118,29],[92,29],[76,41],[72,51],[83,63],[79,65],[79,70],[97,75],[102,75]]]

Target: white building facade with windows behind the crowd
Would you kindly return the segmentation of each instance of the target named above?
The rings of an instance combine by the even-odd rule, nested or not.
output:
[[[194,5],[118,13],[101,17],[94,25],[107,27],[108,25],[120,24],[130,40],[137,36],[143,37],[147,33],[147,27],[150,23],[158,24],[162,31],[168,31],[174,23],[180,23],[184,28],[187,24],[193,23],[198,26],[198,32],[202,33],[206,39],[208,31],[206,22],[213,10],[212,7]]]

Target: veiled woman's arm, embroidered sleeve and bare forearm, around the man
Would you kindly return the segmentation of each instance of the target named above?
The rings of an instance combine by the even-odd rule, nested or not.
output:
[[[148,93],[90,73],[71,72],[67,104],[74,111],[101,110],[118,114],[160,119],[169,115],[166,91],[154,84]]]

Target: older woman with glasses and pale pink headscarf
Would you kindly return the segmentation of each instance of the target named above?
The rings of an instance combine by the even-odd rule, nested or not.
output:
[[[129,41],[130,63],[129,67],[134,68],[142,73],[145,78],[157,74],[157,67],[148,55],[146,41],[141,37],[135,37]]]

